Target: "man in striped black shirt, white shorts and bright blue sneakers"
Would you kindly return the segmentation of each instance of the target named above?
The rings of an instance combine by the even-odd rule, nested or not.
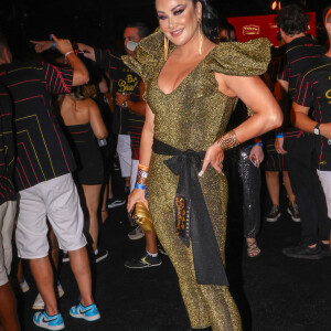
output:
[[[0,38],[0,81],[14,104],[17,164],[14,179],[20,192],[17,223],[19,257],[30,260],[45,310],[36,312],[33,322],[42,328],[64,329],[54,292],[53,269],[49,259],[49,218],[58,245],[70,252],[81,302],[72,307],[74,318],[99,318],[92,296],[92,279],[84,216],[71,172],[75,169],[67,141],[55,119],[52,95],[70,93],[72,86],[87,83],[88,73],[75,55],[68,40],[54,38],[56,49],[72,68],[44,63],[12,63],[4,38]],[[88,308],[86,308],[88,307]]]

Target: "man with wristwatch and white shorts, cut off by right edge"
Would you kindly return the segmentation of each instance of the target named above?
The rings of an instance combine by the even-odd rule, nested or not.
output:
[[[325,30],[331,41],[331,7],[323,14]],[[298,81],[293,99],[293,125],[306,132],[316,135],[316,152],[318,154],[317,172],[322,183],[328,215],[331,217],[331,47],[325,55],[317,58]],[[313,119],[309,109],[313,106]],[[330,255],[330,222],[320,228],[321,248]]]

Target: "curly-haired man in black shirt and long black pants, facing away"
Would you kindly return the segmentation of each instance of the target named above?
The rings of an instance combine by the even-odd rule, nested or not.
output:
[[[305,11],[296,4],[284,7],[276,18],[287,46],[278,82],[291,99],[300,74],[324,53],[321,46],[306,36],[308,22]],[[301,243],[284,248],[282,252],[289,257],[319,259],[323,254],[318,245],[318,227],[324,228],[328,215],[324,194],[314,168],[314,139],[295,127],[286,128],[284,136],[285,140],[277,138],[275,145],[279,153],[288,152],[288,172],[301,218]]]

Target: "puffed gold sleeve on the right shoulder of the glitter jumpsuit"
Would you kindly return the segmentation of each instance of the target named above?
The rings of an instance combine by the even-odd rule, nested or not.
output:
[[[207,68],[233,76],[257,76],[267,71],[269,62],[270,43],[267,39],[224,42],[211,52]]]

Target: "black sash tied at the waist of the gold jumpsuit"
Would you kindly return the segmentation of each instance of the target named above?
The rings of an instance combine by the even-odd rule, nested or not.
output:
[[[197,179],[205,152],[181,150],[154,139],[157,154],[172,157],[164,164],[177,175],[179,183],[174,197],[175,231],[190,247],[192,242],[196,282],[228,286],[212,221]]]

